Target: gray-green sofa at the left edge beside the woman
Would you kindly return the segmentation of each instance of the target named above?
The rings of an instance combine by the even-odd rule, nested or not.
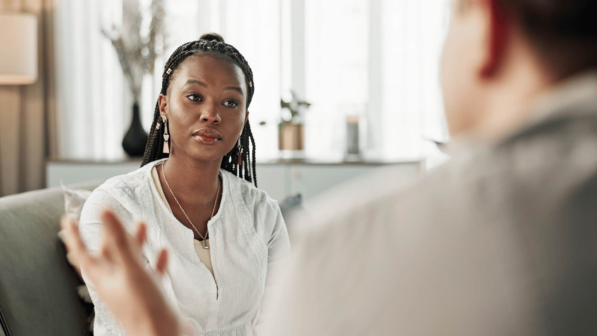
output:
[[[60,188],[0,198],[0,336],[85,334],[80,282],[57,237],[63,213]]]

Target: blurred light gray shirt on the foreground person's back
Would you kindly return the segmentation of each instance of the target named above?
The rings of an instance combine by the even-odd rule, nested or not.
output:
[[[414,185],[380,170],[295,218],[272,334],[597,334],[597,75],[536,115]]]

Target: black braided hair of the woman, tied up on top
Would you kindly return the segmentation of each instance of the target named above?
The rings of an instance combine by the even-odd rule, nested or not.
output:
[[[177,66],[179,66],[180,63],[182,63],[187,57],[199,53],[213,53],[217,56],[225,57],[241,68],[243,74],[245,75],[245,81],[247,82],[248,108],[251,104],[251,99],[253,99],[253,92],[255,91],[253,71],[251,71],[251,67],[248,65],[245,57],[243,57],[235,47],[224,42],[224,38],[217,33],[204,34],[197,41],[187,42],[174,50],[174,53],[172,53],[168,59],[168,62],[166,62],[166,65],[164,66],[164,74],[162,75],[162,90],[160,93],[166,94],[168,85],[170,85],[172,75],[176,71]],[[171,69],[171,71],[168,71],[168,69]],[[165,127],[156,129],[156,125],[160,122],[160,120],[161,116],[159,113],[159,103],[156,103],[155,112],[153,114],[153,123],[149,132],[149,139],[147,139],[147,144],[145,146],[143,163],[141,163],[141,167],[147,163],[159,160],[160,158],[168,157],[168,155],[170,155],[162,152],[162,149],[164,148],[163,139]],[[242,129],[240,140],[241,146],[244,149],[241,152],[242,165],[239,166],[238,164],[238,148],[237,146],[234,146],[230,152],[224,155],[220,167],[236,176],[239,176],[240,178],[244,178],[249,182],[253,182],[255,187],[257,187],[257,172],[255,170],[255,139],[253,138],[253,133],[251,133],[251,125],[249,124],[248,120]],[[251,146],[249,146],[250,144]],[[251,148],[251,151],[249,151],[249,148]]]

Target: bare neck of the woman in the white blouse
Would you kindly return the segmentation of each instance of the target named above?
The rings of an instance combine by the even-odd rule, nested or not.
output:
[[[164,163],[164,172],[177,197],[209,202],[213,201],[218,188],[220,164],[218,161],[200,163],[171,154]],[[162,175],[161,167],[159,173]]]

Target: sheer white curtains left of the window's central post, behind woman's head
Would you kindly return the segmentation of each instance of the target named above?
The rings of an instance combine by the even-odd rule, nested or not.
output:
[[[115,50],[101,27],[122,22],[123,0],[63,0],[56,7],[60,114],[57,155],[62,158],[119,160],[131,122],[131,93]],[[127,0],[124,0],[127,1]],[[150,0],[139,0],[149,11]],[[167,48],[147,76],[140,102],[149,131],[164,63],[180,44],[218,32],[245,56],[254,72],[256,93],[250,119],[257,155],[272,157],[277,130],[261,120],[279,115],[280,23],[277,0],[165,0]],[[149,13],[147,13],[149,15]]]

